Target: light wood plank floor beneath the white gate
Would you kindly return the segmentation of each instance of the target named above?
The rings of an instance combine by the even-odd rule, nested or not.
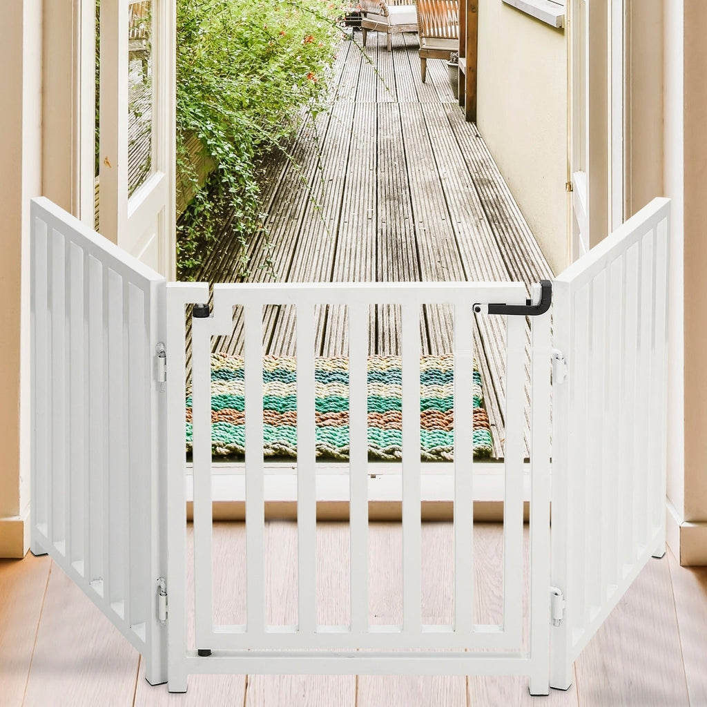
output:
[[[319,617],[344,622],[348,526],[320,523]],[[214,530],[217,619],[243,611],[244,526]],[[477,620],[498,617],[501,526],[475,526]],[[371,621],[400,614],[401,532],[371,525]],[[267,524],[269,621],[296,612],[296,524]],[[423,617],[449,621],[452,534],[423,524]],[[327,598],[328,597],[328,598]],[[707,705],[707,568],[681,568],[670,552],[652,560],[575,665],[567,692],[530,698],[525,679],[469,677],[192,676],[185,695],[144,679],[139,655],[47,557],[0,561],[0,706],[498,706],[681,707]]]

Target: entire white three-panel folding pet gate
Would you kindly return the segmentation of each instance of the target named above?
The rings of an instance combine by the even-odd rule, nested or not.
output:
[[[214,286],[192,320],[194,645],[187,645],[185,312],[205,284],[166,284],[47,199],[32,205],[33,551],[47,552],[144,656],[152,684],[190,673],[524,674],[532,694],[572,662],[665,546],[670,203],[656,199],[551,284]],[[501,303],[501,305],[499,305]],[[216,624],[210,341],[245,326],[247,450],[263,448],[262,308],[297,312],[298,623],[264,607],[264,461],[245,457],[246,617]],[[351,619],[315,610],[315,306],[349,327]],[[402,321],[402,624],[368,616],[369,305]],[[421,305],[454,312],[454,620],[421,619]],[[526,318],[530,342],[530,591],[524,610]],[[474,622],[473,318],[506,317],[503,619]],[[551,334],[550,317],[552,316]],[[551,380],[552,379],[552,380]],[[551,422],[552,414],[552,422]],[[551,449],[552,440],[552,449]],[[552,462],[552,463],[550,463]],[[550,479],[552,470],[552,483]],[[552,502],[552,532],[550,532]],[[527,638],[527,636],[530,638]],[[525,636],[525,637],[524,637]]]

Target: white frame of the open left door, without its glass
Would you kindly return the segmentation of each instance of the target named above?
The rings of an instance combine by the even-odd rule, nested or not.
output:
[[[174,279],[176,7],[174,0],[151,0],[151,173],[128,198],[130,4],[102,0],[100,5],[99,230]]]

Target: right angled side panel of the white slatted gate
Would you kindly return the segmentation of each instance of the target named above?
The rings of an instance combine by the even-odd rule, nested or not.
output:
[[[665,542],[670,202],[655,199],[554,284],[551,684]]]

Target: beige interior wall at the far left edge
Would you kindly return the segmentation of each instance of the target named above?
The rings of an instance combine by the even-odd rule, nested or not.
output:
[[[29,539],[26,268],[29,199],[41,189],[41,0],[2,0],[0,11],[6,29],[0,42],[0,557],[18,557]]]

